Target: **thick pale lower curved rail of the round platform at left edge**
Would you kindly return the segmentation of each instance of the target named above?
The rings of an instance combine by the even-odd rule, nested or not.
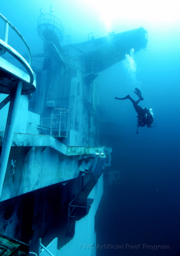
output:
[[[5,51],[9,52],[10,55],[15,57],[16,60],[18,60],[23,67],[28,72],[28,75],[30,76],[30,84],[33,84],[34,82],[34,72],[32,71],[30,65],[27,63],[27,61],[17,52],[14,48],[9,46],[9,44],[6,44],[3,40],[0,39],[0,46],[1,48],[5,49]]]

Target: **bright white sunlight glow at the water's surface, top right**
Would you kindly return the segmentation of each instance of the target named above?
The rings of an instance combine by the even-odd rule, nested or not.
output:
[[[144,20],[151,23],[168,23],[179,20],[179,8],[177,0],[173,1],[119,1],[119,0],[87,0],[87,4],[99,12],[107,30],[111,30],[113,23],[122,19],[139,21]]]

